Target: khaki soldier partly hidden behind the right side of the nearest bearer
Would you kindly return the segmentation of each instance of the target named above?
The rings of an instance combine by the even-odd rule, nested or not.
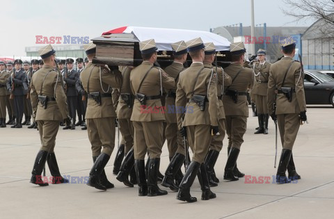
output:
[[[214,172],[214,165],[218,159],[219,152],[223,148],[223,140],[225,138],[225,111],[223,106],[223,91],[225,86],[230,86],[231,77],[226,74],[222,67],[214,67],[212,63],[214,62],[216,47],[212,42],[205,43],[205,59],[204,67],[214,70],[217,74],[217,97],[219,102],[219,115],[218,115],[218,126],[220,135],[212,136],[210,143],[210,149],[207,153],[205,159],[205,167],[207,168],[207,176],[209,177],[210,186],[218,186],[219,179],[216,177]]]

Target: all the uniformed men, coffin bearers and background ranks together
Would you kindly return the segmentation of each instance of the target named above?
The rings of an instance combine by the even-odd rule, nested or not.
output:
[[[86,65],[77,58],[74,70],[72,58],[57,61],[54,49],[47,45],[39,50],[41,60],[24,62],[23,68],[21,60],[0,63],[0,126],[38,127],[42,147],[31,183],[47,186],[41,177],[46,162],[53,183],[68,182],[61,176],[54,154],[59,124],[65,126],[63,129],[81,125],[88,131],[93,156],[88,186],[106,190],[114,187],[104,167],[115,146],[117,117],[122,142],[113,167],[116,179],[129,187],[138,184],[140,196],[166,195],[159,182],[177,192],[177,200],[196,202],[190,194],[196,176],[201,199],[216,197],[210,187],[219,182],[214,165],[225,133],[228,159],[223,179],[244,177],[237,168],[237,158],[244,142],[247,93],[251,91],[259,120],[255,133],[268,133],[269,115],[278,124],[283,150],[276,180],[289,183],[301,179],[294,167],[292,147],[300,124],[306,120],[306,108],[301,64],[293,59],[295,42],[287,38],[281,46],[284,57],[271,65],[263,49],[257,51],[257,60],[245,63],[244,43],[232,43],[232,62],[223,69],[213,65],[216,49],[212,42],[203,43],[200,38],[175,42],[171,44],[174,61],[163,70],[157,66],[153,39],[140,42],[143,63],[137,67],[93,64],[96,47],[90,43],[84,45]],[[188,54],[192,63],[186,67]],[[161,175],[165,141],[170,163]],[[182,165],[186,166],[184,174]]]

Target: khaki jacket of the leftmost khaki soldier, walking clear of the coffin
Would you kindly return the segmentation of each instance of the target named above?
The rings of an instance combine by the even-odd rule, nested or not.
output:
[[[30,99],[35,121],[61,121],[68,117],[66,96],[62,83],[60,73],[58,74],[58,72],[49,65],[43,65],[42,69],[33,74],[31,77]],[[40,92],[41,90],[42,92]],[[47,108],[44,108],[44,106],[38,102],[38,95],[40,95],[40,93],[47,97],[53,97],[56,101],[49,101]]]

